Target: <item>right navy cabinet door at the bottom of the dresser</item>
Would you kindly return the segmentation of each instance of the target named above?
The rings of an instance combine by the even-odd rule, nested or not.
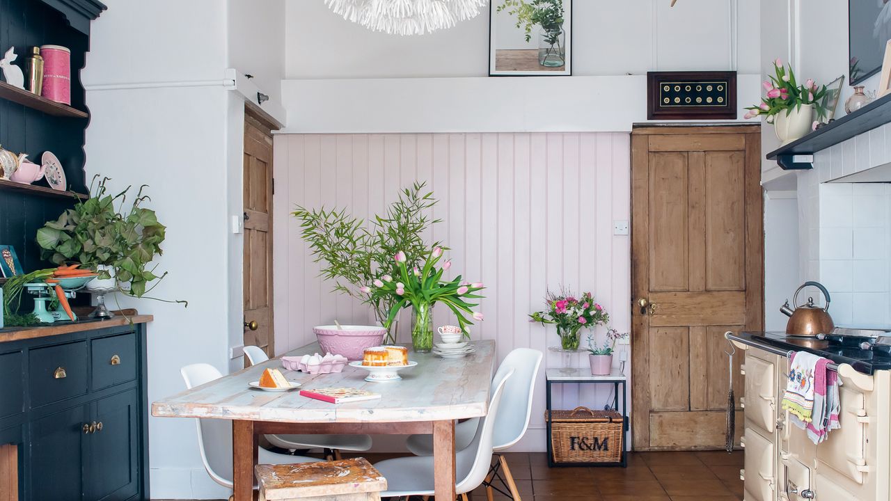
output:
[[[133,497],[139,487],[138,394],[136,390],[125,391],[102,398],[91,407],[97,430],[85,445],[86,499],[119,501]]]

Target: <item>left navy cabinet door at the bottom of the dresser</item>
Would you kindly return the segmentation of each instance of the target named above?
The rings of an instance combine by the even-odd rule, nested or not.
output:
[[[88,406],[74,407],[31,423],[31,499],[79,501],[83,492],[81,445]]]

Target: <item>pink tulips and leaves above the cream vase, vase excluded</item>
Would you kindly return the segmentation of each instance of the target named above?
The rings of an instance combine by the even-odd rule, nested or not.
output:
[[[775,75],[769,80],[764,80],[764,97],[761,103],[756,106],[746,108],[746,119],[754,119],[759,115],[766,115],[767,122],[773,123],[774,116],[786,111],[786,115],[792,112],[792,109],[800,109],[803,105],[813,104],[817,111],[817,116],[822,116],[824,111],[822,101],[826,95],[826,86],[817,86],[813,79],[808,78],[804,85],[798,85],[795,79],[795,72],[789,65],[789,70],[780,59],[773,62],[773,70]]]

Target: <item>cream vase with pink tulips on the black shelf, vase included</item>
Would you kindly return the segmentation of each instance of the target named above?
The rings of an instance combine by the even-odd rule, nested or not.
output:
[[[767,116],[767,122],[773,124],[773,131],[782,145],[789,144],[807,135],[818,122],[813,119],[814,111],[818,117],[826,112],[822,105],[826,86],[818,86],[808,78],[804,85],[798,85],[795,72],[789,65],[787,70],[780,59],[773,62],[774,75],[765,80],[764,97],[761,103],[746,108],[746,119],[754,119],[760,115]]]

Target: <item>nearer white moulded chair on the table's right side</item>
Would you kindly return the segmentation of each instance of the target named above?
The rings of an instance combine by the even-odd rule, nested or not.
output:
[[[499,368],[495,374],[495,390],[489,398],[489,412],[480,420],[470,446],[455,454],[455,492],[467,500],[467,493],[483,483],[492,464],[492,439],[495,423],[501,414],[504,383],[514,375],[512,368]],[[374,464],[374,467],[387,479],[387,490],[380,497],[431,496],[434,490],[436,471],[433,456],[408,456],[387,459]]]

